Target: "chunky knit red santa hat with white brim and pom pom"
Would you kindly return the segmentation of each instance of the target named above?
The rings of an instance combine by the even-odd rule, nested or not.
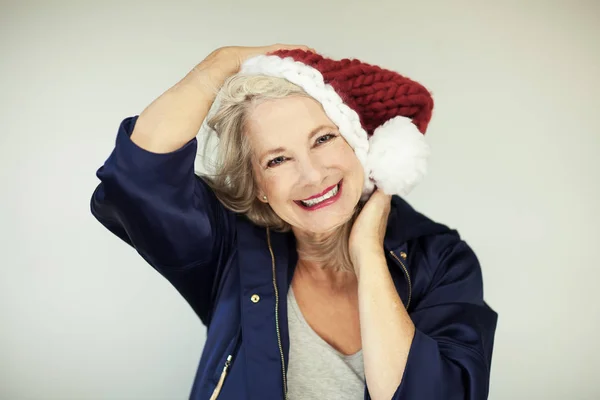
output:
[[[304,50],[250,58],[239,74],[285,78],[321,103],[363,165],[363,195],[377,186],[405,196],[425,176],[430,151],[424,134],[433,99],[419,83],[356,59],[335,61]],[[206,124],[200,135],[212,135],[209,143],[218,145]]]

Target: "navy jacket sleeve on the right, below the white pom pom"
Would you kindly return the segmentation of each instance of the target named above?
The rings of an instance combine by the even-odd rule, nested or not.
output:
[[[431,285],[410,312],[416,332],[394,400],[488,396],[497,314],[483,301],[475,254],[465,242],[447,239],[441,239],[445,251],[428,256]]]

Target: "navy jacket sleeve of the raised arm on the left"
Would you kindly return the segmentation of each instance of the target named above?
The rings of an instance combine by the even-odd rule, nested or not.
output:
[[[194,174],[197,141],[166,154],[131,141],[137,116],[122,121],[116,145],[96,175],[90,207],[210,320],[213,286],[227,263],[234,217]]]

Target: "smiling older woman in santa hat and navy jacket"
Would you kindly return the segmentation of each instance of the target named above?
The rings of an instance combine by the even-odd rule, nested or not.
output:
[[[402,198],[432,107],[358,60],[225,47],[121,123],[91,210],[207,326],[190,398],[487,398],[477,258]]]

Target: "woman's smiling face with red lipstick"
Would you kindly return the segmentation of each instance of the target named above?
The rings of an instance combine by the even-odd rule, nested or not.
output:
[[[271,100],[250,115],[248,138],[260,201],[295,229],[327,233],[348,221],[364,172],[321,104],[301,96]]]

